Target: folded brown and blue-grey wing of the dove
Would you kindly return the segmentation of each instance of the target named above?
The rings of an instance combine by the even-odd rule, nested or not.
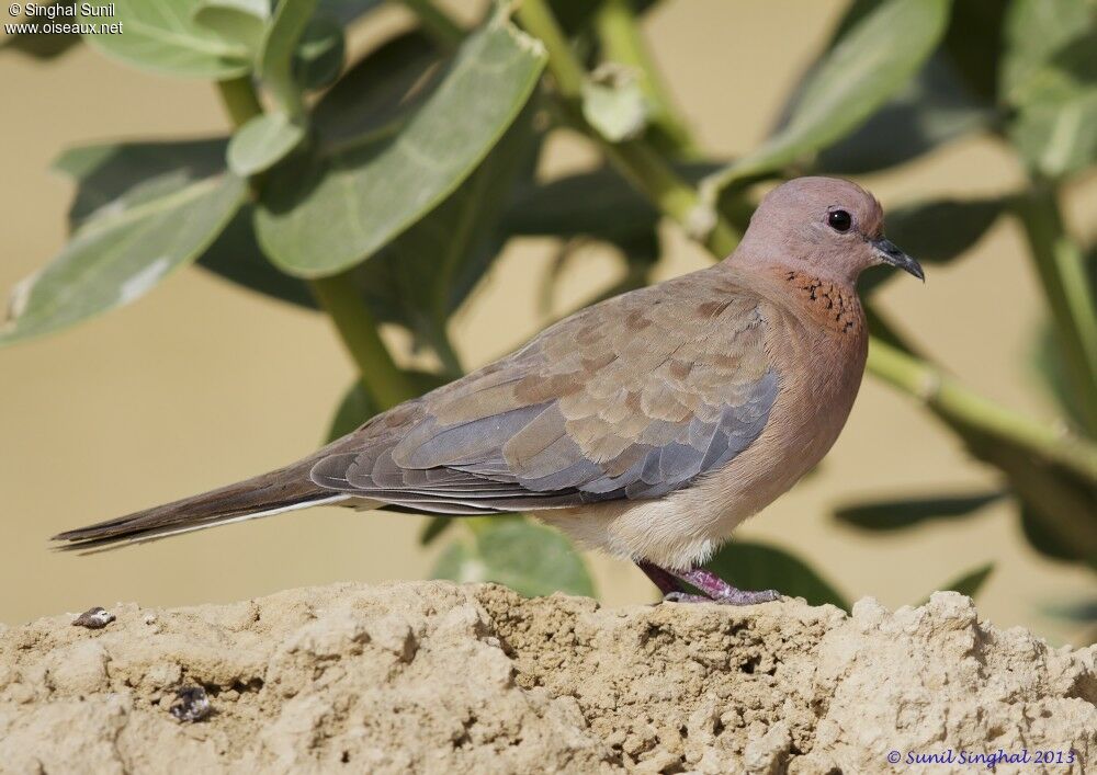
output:
[[[720,275],[586,309],[375,418],[312,468],[325,489],[427,512],[649,499],[743,452],[779,375],[757,296]]]

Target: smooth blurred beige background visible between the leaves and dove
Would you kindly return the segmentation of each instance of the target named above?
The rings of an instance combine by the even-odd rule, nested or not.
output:
[[[471,8],[451,3],[468,16]],[[478,5],[478,3],[474,3]],[[647,19],[656,58],[698,136],[731,156],[765,135],[824,42],[840,3],[768,0],[666,2]],[[400,24],[399,9],[384,11]],[[53,64],[0,55],[0,288],[49,260],[65,242],[71,186],[47,171],[65,147],[113,138],[225,132],[206,83],[162,79],[88,48]],[[545,173],[590,164],[590,149],[559,138]],[[866,178],[885,207],[935,194],[1008,189],[1015,160],[989,141],[961,141],[895,174]],[[1097,181],[1071,192],[1075,228],[1097,221]],[[671,276],[705,264],[667,225]],[[465,363],[520,344],[545,318],[538,293],[548,240],[512,243],[454,323]],[[610,257],[573,263],[559,310],[612,276]],[[928,283],[896,282],[886,308],[965,381],[1018,409],[1051,417],[1026,368],[1043,315],[1020,235],[1002,223],[975,254]],[[392,332],[388,332],[392,333]],[[394,337],[393,341],[399,341]],[[61,528],[117,515],[242,478],[296,458],[319,442],[352,372],[325,320],[184,270],[131,307],[61,334],[0,350],[0,622],[91,605],[230,601],[336,580],[423,578],[433,552],[417,547],[422,517],[317,509],[117,552],[77,557],[47,550]],[[954,525],[890,538],[836,526],[829,510],[880,493],[972,490],[993,471],[911,401],[867,379],[823,472],[743,527],[812,560],[852,599],[914,603],[988,559],[998,560],[981,599],[1002,626],[1053,640],[1077,631],[1040,613],[1092,575],[1038,557],[1006,503]],[[647,602],[632,567],[597,558],[600,596]]]

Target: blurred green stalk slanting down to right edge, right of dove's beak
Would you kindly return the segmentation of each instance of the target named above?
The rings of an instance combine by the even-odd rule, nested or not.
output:
[[[1063,347],[1064,372],[1082,408],[1086,431],[1097,438],[1097,305],[1085,260],[1066,233],[1056,192],[1050,184],[1034,187],[1014,201],[1028,239],[1032,262]]]

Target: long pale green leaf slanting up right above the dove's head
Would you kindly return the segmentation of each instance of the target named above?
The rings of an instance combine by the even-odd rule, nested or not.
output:
[[[789,123],[708,179],[706,192],[770,172],[833,144],[871,116],[918,71],[949,19],[949,0],[887,0],[860,19],[803,87]]]

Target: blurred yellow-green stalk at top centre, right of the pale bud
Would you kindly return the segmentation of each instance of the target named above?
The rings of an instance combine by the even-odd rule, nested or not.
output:
[[[595,14],[595,27],[606,58],[636,70],[640,88],[654,109],[651,126],[664,140],[663,145],[683,158],[700,157],[700,147],[674,109],[670,92],[652,61],[629,0],[604,0]]]

